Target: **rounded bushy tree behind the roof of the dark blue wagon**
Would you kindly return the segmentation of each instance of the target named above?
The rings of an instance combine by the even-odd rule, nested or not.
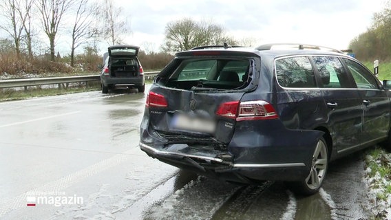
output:
[[[181,19],[168,23],[165,30],[164,52],[173,53],[190,50],[201,45],[235,45],[236,41],[226,36],[224,28],[211,21],[195,22],[192,19]]]

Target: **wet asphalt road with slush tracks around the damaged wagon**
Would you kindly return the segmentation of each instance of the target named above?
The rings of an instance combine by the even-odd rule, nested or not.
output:
[[[99,91],[0,102],[0,219],[368,219],[364,152],[330,164],[312,197],[226,184],[140,151],[144,106]]]

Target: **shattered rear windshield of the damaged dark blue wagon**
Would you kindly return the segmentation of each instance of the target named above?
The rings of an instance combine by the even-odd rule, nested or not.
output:
[[[166,86],[178,89],[242,89],[249,81],[248,59],[186,59],[169,76]]]

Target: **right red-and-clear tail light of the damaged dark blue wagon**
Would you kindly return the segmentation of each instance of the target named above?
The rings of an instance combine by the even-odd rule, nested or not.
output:
[[[268,102],[257,100],[247,102],[224,102],[220,104],[216,115],[243,120],[266,120],[278,118],[274,107]]]

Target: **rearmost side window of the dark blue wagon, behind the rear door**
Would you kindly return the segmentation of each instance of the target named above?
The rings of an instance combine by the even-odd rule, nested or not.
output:
[[[278,83],[282,87],[316,87],[313,67],[306,56],[278,59],[275,67]]]

